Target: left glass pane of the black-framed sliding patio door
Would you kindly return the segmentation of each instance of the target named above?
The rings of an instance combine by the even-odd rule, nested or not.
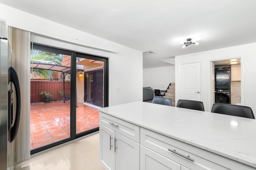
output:
[[[70,138],[70,55],[34,45],[30,60],[30,150]]]

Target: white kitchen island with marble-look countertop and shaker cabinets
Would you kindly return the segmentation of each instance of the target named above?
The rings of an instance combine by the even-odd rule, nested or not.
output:
[[[146,102],[99,111],[106,169],[256,169],[255,119]]]

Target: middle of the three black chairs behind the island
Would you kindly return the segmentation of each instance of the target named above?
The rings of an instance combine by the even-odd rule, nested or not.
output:
[[[204,111],[204,104],[195,100],[178,100],[176,107]]]

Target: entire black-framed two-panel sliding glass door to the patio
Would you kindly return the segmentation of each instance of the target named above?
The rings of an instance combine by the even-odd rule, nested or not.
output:
[[[31,49],[31,154],[98,131],[108,106],[108,60],[42,45]]]

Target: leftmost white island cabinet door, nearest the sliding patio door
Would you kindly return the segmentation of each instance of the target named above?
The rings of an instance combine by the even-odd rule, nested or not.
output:
[[[106,170],[115,170],[115,132],[100,125],[100,162]]]

